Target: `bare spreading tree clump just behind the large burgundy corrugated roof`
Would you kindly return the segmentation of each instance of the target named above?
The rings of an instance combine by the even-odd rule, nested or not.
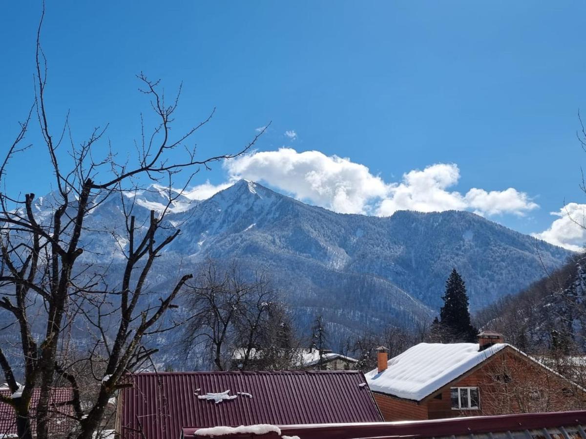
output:
[[[203,350],[219,371],[275,366],[273,349],[290,336],[290,323],[264,274],[246,277],[236,263],[226,268],[208,260],[188,287],[188,353]]]

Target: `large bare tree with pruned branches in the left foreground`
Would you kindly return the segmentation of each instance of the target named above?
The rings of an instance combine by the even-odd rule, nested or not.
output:
[[[15,364],[14,356],[0,348],[0,366],[13,393],[12,397],[0,395],[0,401],[14,407],[19,437],[32,438],[35,426],[36,436],[45,439],[50,434],[52,413],[59,410],[50,403],[53,386],[56,382],[66,382],[73,389],[73,399],[69,402],[73,413],[64,411],[73,423],[69,437],[89,439],[101,425],[108,400],[124,386],[125,373],[148,361],[155,352],[144,341],[168,329],[168,320],[163,315],[173,307],[179,291],[192,278],[189,272],[178,273],[175,283],[157,292],[158,300],[145,299],[151,294],[152,267],[163,249],[180,233],[165,223],[169,207],[179,196],[171,187],[178,183],[180,171],[187,173],[180,177],[179,186],[185,189],[200,169],[209,169],[214,162],[246,152],[258,135],[234,153],[200,159],[191,138],[209,122],[213,111],[188,131],[173,136],[171,127],[180,89],[173,100],[166,101],[159,81],[141,73],[137,77],[142,84],[140,90],[149,98],[158,123],[150,133],[142,124],[141,135],[135,142],[135,162],[118,162],[113,150],[98,151],[105,128],[94,129],[87,140],[75,145],[69,118],[66,117],[56,133],[49,122],[45,97],[47,63],[40,43],[44,14],[43,9],[36,38],[35,102],[0,165],[0,184],[4,186],[9,166],[28,147],[23,142],[35,115],[47,164],[53,171],[55,191],[52,205],[43,215],[35,205],[35,194],[27,193],[21,198],[5,191],[0,193],[2,326],[18,328],[20,362]],[[60,152],[64,148],[69,148],[67,159]],[[171,151],[180,150],[185,152],[181,159],[169,160]],[[103,158],[98,159],[100,156]],[[64,166],[63,163],[73,164]],[[147,218],[139,218],[134,213],[132,198],[127,195],[136,193],[149,181],[165,184],[169,204],[162,211],[151,211]],[[108,284],[108,263],[84,263],[87,243],[84,238],[104,232],[91,230],[87,220],[112,197],[121,198],[124,210],[122,231],[114,230],[114,225],[110,231],[124,238],[119,241],[124,244],[116,249],[124,256],[124,263],[120,279],[110,280]],[[91,331],[91,343],[83,354],[77,353],[81,358],[73,358],[69,336],[80,321]],[[81,361],[84,368],[77,367]],[[21,368],[22,384],[16,380]],[[83,401],[80,377],[88,369],[95,377],[97,388],[90,400]],[[36,388],[39,396],[35,402]]]

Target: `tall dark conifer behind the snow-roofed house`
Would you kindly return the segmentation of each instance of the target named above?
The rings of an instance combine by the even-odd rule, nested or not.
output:
[[[477,330],[470,321],[468,294],[464,279],[456,269],[452,270],[445,283],[444,306],[440,310],[440,323],[444,342],[475,342]],[[442,334],[443,335],[443,334]]]

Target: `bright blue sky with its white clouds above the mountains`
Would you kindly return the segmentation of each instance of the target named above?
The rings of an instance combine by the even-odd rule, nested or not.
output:
[[[1,145],[32,102],[39,13],[39,2],[23,1],[0,15]],[[55,131],[70,109],[76,142],[109,122],[124,157],[148,111],[135,74],[162,78],[168,94],[183,81],[175,132],[217,108],[195,139],[202,157],[237,150],[272,121],[257,144],[269,155],[216,166],[198,184],[254,176],[311,203],[368,214],[384,213],[381,200],[386,212],[455,206],[525,233],[557,219],[541,236],[573,246],[584,235],[550,212],[564,202],[581,212],[586,202],[586,153],[576,139],[586,108],[585,17],[578,1],[49,0],[47,102]],[[38,144],[36,132],[29,139]],[[444,165],[404,181],[434,164]],[[40,145],[10,172],[8,190],[50,189]],[[437,190],[425,193],[428,184]],[[467,196],[471,188],[485,193]],[[500,192],[507,188],[515,193]]]

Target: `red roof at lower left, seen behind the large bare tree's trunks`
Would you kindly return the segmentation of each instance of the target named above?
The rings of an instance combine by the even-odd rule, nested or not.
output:
[[[1,389],[0,394],[4,396],[11,395],[10,390]],[[39,401],[40,389],[33,390],[33,396],[30,402],[31,416],[35,416],[35,407]],[[50,404],[52,405],[51,421],[49,433],[69,433],[73,420],[66,415],[73,414],[73,408],[70,405],[59,405],[70,401],[73,397],[71,389],[66,387],[56,387],[51,390]],[[36,434],[36,424],[32,424],[33,434]],[[16,434],[16,415],[14,409],[9,404],[0,402],[0,437],[2,435]]]

